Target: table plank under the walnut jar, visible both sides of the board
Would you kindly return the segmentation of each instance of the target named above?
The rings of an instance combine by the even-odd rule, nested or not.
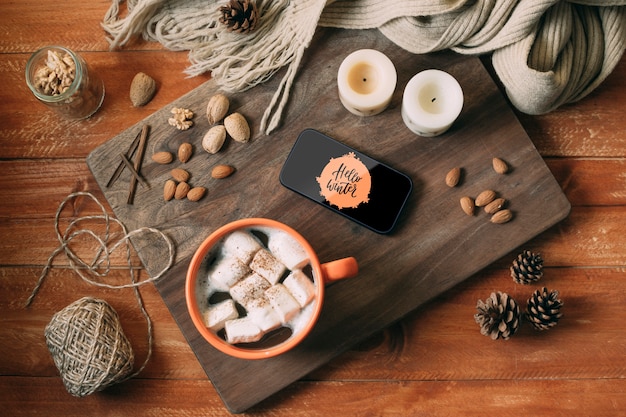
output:
[[[30,94],[24,81],[28,53],[0,55],[0,75],[7,83],[17,86],[16,89],[7,90],[0,102],[0,135],[20,138],[5,141],[3,157],[82,157],[209,79],[208,75],[193,78],[184,76],[183,71],[189,65],[184,53],[134,53],[124,50],[114,53],[88,52],[84,55],[104,79],[107,93],[98,113],[90,120],[79,122],[68,122],[56,117]],[[120,65],[121,62],[124,64]],[[626,66],[624,63],[620,65]],[[134,108],[128,99],[128,88],[132,77],[140,70],[157,80],[158,93],[145,107]],[[519,113],[517,116],[545,157],[624,157],[626,144],[619,132],[626,129],[626,122],[620,117],[619,109],[626,103],[623,103],[624,98],[615,97],[613,93],[620,91],[620,82],[623,81],[616,75],[610,77],[606,85],[601,85],[597,92],[574,108],[568,107],[542,116]],[[597,109],[601,109],[601,113]]]

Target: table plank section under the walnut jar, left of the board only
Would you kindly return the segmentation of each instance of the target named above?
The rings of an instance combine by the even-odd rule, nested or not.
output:
[[[106,93],[94,116],[68,121],[38,103],[28,90],[24,70],[29,53],[0,54],[0,76],[15,86],[3,94],[0,102],[0,137],[19,138],[3,142],[3,158],[84,158],[96,146],[209,79],[209,75],[185,77],[183,71],[189,61],[183,52],[105,51],[81,55],[103,79]],[[157,93],[146,106],[133,107],[129,88],[139,71],[156,80]]]

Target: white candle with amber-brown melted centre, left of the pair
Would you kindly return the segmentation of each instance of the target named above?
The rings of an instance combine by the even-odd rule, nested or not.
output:
[[[348,55],[339,66],[339,98],[351,113],[373,116],[389,105],[397,80],[396,67],[385,54],[360,49]]]

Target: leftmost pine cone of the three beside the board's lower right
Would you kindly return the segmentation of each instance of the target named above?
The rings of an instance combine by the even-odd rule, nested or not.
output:
[[[506,293],[492,292],[485,302],[478,300],[476,310],[478,313],[474,315],[474,320],[480,325],[480,333],[493,340],[506,340],[519,329],[519,306]]]

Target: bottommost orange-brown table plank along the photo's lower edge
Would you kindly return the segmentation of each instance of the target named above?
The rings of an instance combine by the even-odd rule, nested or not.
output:
[[[83,416],[85,409],[136,417],[232,415],[219,408],[208,381],[134,380],[82,399],[70,397],[59,381],[49,378],[6,378],[0,380],[0,389],[8,393],[5,410],[15,417],[46,414],[50,409],[67,417]],[[613,416],[626,407],[625,392],[623,379],[300,382],[245,415]]]

